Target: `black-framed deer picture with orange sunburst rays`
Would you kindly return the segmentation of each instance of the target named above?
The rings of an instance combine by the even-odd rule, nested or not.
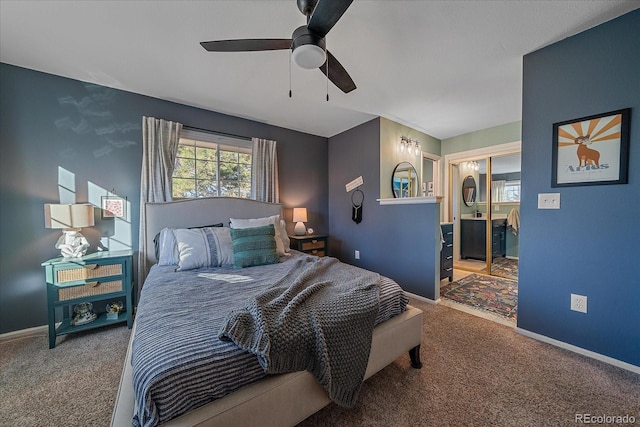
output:
[[[626,184],[631,109],[553,125],[552,187]]]

